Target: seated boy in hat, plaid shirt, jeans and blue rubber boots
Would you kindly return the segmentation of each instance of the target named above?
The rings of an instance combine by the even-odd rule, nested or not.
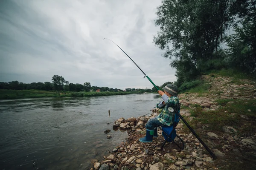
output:
[[[179,103],[178,88],[174,84],[168,84],[163,88],[163,91],[157,91],[163,99],[163,102],[157,103],[157,108],[163,109],[163,111],[157,117],[148,120],[145,126],[146,136],[140,138],[140,142],[152,142],[153,135],[157,137],[157,125],[170,126],[174,122],[175,112],[173,108]]]

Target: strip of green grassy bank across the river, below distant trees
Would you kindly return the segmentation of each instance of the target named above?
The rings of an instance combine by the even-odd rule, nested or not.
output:
[[[41,90],[0,90],[0,99],[25,99],[40,97],[85,97],[111,96],[131,94],[129,92],[71,92],[71,91],[41,91]]]

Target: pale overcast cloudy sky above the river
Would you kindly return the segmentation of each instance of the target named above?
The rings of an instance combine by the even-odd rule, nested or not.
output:
[[[152,88],[175,82],[153,36],[161,0],[1,0],[0,82]],[[108,38],[109,40],[103,40]]]

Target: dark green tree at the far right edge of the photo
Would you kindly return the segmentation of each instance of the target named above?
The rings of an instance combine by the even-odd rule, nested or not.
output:
[[[227,61],[230,67],[256,75],[256,0],[238,0],[233,13],[239,20],[235,34],[227,38]],[[239,24],[238,24],[239,23]]]

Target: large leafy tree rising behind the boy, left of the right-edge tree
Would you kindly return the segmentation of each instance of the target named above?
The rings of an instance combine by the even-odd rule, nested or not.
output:
[[[217,55],[225,31],[234,17],[235,0],[163,0],[157,7],[160,31],[154,43],[172,60],[180,83],[195,79],[207,62]]]

